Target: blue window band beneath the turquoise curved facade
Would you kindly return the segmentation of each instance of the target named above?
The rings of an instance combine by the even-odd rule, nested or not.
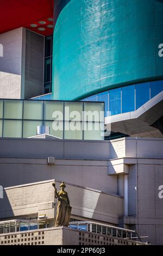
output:
[[[86,97],[83,101],[104,101],[105,117],[135,111],[163,91],[163,80],[134,84]]]

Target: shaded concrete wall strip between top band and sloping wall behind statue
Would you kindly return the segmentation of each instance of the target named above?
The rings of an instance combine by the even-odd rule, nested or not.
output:
[[[79,186],[117,194],[117,177],[108,175],[107,161],[0,158],[1,185],[16,186],[43,180],[65,180]]]

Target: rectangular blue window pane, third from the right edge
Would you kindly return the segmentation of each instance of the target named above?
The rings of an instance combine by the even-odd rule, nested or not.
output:
[[[135,111],[135,85],[122,87],[122,113]]]

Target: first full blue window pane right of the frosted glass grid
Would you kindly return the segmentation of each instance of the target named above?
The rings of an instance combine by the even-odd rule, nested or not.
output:
[[[109,111],[111,115],[121,113],[121,88],[109,91]]]

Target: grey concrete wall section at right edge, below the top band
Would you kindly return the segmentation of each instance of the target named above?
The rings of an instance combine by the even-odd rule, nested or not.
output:
[[[163,159],[135,160],[128,174],[128,217],[120,223],[129,229],[135,226],[139,236],[148,236],[145,241],[162,245],[163,199],[159,198],[159,187],[163,185]]]

